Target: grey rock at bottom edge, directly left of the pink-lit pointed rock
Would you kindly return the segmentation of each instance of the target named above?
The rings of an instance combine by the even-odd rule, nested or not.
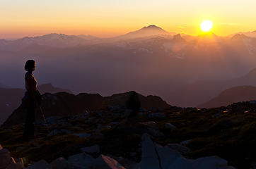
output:
[[[69,156],[68,163],[70,163],[76,169],[89,169],[92,166],[94,158],[88,154],[75,154]]]

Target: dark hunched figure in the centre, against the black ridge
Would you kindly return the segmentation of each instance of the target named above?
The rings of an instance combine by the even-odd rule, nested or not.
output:
[[[136,120],[139,108],[141,108],[141,102],[139,101],[139,96],[136,92],[129,92],[129,99],[126,102],[126,107],[131,111],[128,116],[127,123],[129,123],[129,120]]]

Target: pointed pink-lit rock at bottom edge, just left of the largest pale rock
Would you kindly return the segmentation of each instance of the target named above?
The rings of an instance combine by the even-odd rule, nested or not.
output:
[[[94,168],[104,168],[104,169],[125,169],[120,163],[115,161],[115,159],[109,156],[100,155],[93,162]]]

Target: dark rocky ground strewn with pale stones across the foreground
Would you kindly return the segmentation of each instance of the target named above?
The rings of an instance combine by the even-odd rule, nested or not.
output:
[[[1,127],[0,169],[256,168],[255,108],[141,108],[129,119],[108,107],[40,121],[30,141],[23,125]]]

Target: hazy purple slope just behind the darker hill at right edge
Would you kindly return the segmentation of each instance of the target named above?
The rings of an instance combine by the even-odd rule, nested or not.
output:
[[[187,84],[171,92],[168,98],[164,99],[172,105],[198,106],[218,96],[226,89],[243,85],[256,86],[256,68],[244,76],[230,80],[201,80]]]

